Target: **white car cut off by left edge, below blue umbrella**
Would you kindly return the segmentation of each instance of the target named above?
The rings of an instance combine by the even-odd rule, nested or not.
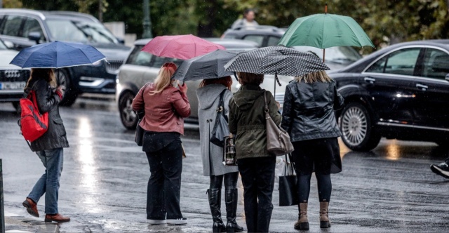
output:
[[[18,53],[0,39],[0,102],[12,102],[16,109],[29,78],[29,69],[9,64]]]

